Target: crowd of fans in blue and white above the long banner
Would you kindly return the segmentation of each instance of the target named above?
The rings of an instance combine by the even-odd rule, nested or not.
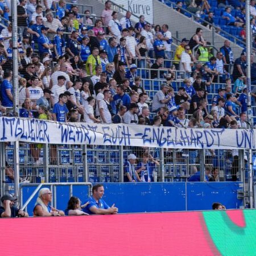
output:
[[[10,8],[3,2],[3,9]],[[109,1],[93,24],[88,10],[81,15],[76,5],[66,5],[64,0],[40,4],[20,0],[19,116],[59,122],[250,128],[246,120],[245,50],[234,59],[226,40],[214,56],[203,30],[197,28],[191,39],[181,40],[172,59],[168,25],[153,26],[143,15],[134,24],[130,17],[127,11],[119,20]],[[11,115],[12,28],[10,22],[6,26],[0,35],[0,111]],[[251,59],[251,81],[255,84],[256,64],[253,56]],[[230,65],[234,66],[232,73]],[[178,76],[183,84],[175,92]],[[154,95],[144,89],[145,78],[162,80]],[[213,82],[223,86],[211,99]],[[31,147],[36,162],[38,148]],[[127,170],[133,174],[131,168]],[[127,179],[144,179],[142,176],[130,175],[129,179],[127,175]]]

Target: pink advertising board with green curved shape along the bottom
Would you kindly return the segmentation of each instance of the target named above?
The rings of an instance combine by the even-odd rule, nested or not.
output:
[[[255,220],[253,209],[0,219],[1,253],[253,256]]]

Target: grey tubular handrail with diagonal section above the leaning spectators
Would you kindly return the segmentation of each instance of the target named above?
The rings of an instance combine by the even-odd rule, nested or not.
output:
[[[31,194],[30,197],[28,197],[26,203],[23,204],[23,200],[22,200],[22,188],[23,187],[35,187],[35,185],[38,185],[38,187],[36,187],[35,191]],[[92,183],[90,182],[61,182],[61,183],[20,183],[20,187],[19,187],[19,191],[20,191],[20,210],[24,210],[27,205],[30,203],[30,201],[33,199],[33,197],[36,195],[36,193],[39,191],[40,188],[42,188],[43,186],[51,186],[51,187],[56,187],[56,186],[63,186],[63,185],[69,185],[71,187],[71,189],[69,190],[69,194],[71,195],[72,193],[72,186],[73,185],[89,185],[89,189],[88,189],[88,197],[92,194]],[[53,192],[53,191],[52,191]],[[55,202],[56,203],[56,202]]]

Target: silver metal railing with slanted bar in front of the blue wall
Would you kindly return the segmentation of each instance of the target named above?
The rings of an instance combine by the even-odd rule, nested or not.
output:
[[[38,187],[36,187],[36,189],[34,190],[34,192],[30,195],[30,197],[28,197],[26,203],[23,204],[23,193],[22,193],[22,189],[24,187],[35,187],[35,185],[37,185]],[[69,186],[69,198],[71,196],[73,196],[73,185],[86,185],[86,186],[89,186],[88,187],[88,197],[90,195],[92,195],[92,183],[89,183],[89,182],[81,182],[81,183],[74,183],[74,182],[67,182],[67,183],[40,183],[40,184],[23,184],[21,183],[20,184],[20,187],[19,187],[19,195],[20,195],[20,210],[24,210],[26,209],[27,211],[27,205],[30,203],[30,201],[35,197],[36,193],[38,193],[38,191],[40,190],[40,188],[42,187],[45,187],[45,186],[48,186],[50,187],[51,189],[51,192],[53,194],[53,197],[52,197],[52,205],[53,207],[56,208],[56,204],[57,204],[57,197],[56,197],[56,187],[59,187],[59,186]]]

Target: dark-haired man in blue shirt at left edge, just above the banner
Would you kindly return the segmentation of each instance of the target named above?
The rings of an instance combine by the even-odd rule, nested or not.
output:
[[[11,84],[11,78],[13,77],[13,72],[5,71],[3,74],[3,82],[1,84],[1,98],[2,106],[12,107],[13,106],[13,85]]]

